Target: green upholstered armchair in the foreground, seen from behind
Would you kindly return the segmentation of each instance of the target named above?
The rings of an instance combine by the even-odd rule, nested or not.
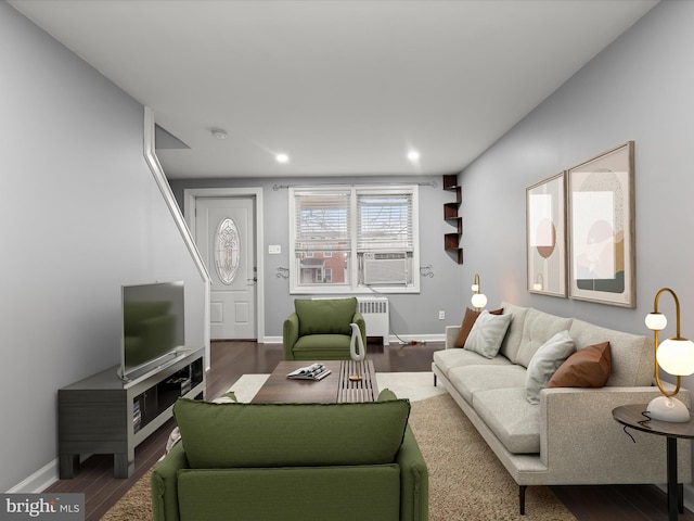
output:
[[[181,398],[181,443],[152,473],[155,521],[425,521],[428,473],[388,390],[361,404]]]

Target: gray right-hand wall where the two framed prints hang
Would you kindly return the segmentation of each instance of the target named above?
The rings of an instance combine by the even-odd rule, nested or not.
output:
[[[491,302],[650,335],[643,319],[657,290],[671,287],[682,334],[694,336],[693,26],[694,2],[659,3],[460,175],[470,194],[463,278],[479,270]],[[628,140],[635,141],[637,308],[528,293],[526,187]],[[659,309],[673,325],[669,295]],[[694,390],[694,379],[686,386]]]

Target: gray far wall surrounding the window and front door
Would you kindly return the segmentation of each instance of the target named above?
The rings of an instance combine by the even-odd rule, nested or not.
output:
[[[290,295],[288,280],[277,277],[278,267],[288,267],[288,190],[273,190],[277,185],[320,185],[345,182],[347,185],[374,182],[430,182],[436,187],[420,187],[420,265],[432,266],[434,277],[421,277],[420,294],[390,294],[390,329],[406,340],[441,336],[444,326],[460,323],[461,284],[459,265],[444,251],[444,233],[454,231],[444,221],[444,203],[454,199],[442,190],[441,176],[434,177],[369,177],[369,178],[265,178],[265,179],[183,179],[171,180],[171,189],[181,208],[184,189],[191,188],[262,188],[265,203],[265,323],[267,336],[282,336],[282,322],[294,310],[294,295]],[[464,237],[464,236],[463,236]],[[268,255],[268,244],[280,244],[281,255]],[[470,281],[472,283],[472,280]],[[470,285],[463,288],[467,298]],[[306,298],[307,295],[297,295]],[[438,312],[446,312],[447,320],[438,320]]]

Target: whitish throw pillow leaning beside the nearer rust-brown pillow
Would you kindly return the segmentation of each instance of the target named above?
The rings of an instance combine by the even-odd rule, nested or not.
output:
[[[547,387],[552,374],[574,354],[576,344],[568,331],[561,331],[548,340],[530,358],[525,377],[525,397],[532,405],[540,403],[540,390]]]

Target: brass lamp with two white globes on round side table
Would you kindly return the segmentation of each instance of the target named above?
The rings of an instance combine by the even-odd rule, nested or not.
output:
[[[663,293],[670,293],[674,298],[676,313],[676,335],[663,341],[658,345],[658,331],[665,329],[668,323],[667,318],[658,313],[658,300]],[[680,300],[669,288],[663,288],[655,295],[653,313],[646,315],[646,328],[653,331],[653,346],[655,350],[655,381],[663,396],[653,398],[648,404],[648,416],[653,420],[683,423],[690,421],[690,411],[686,406],[674,396],[680,392],[682,377],[694,373],[694,342],[680,335]],[[667,392],[660,383],[658,366],[664,371],[677,377],[674,391]]]

